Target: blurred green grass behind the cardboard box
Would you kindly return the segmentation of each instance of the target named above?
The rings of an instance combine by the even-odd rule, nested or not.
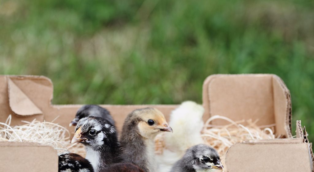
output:
[[[313,141],[313,9],[309,0],[0,0],[0,73],[51,78],[54,104],[201,103],[210,74],[274,73]]]

